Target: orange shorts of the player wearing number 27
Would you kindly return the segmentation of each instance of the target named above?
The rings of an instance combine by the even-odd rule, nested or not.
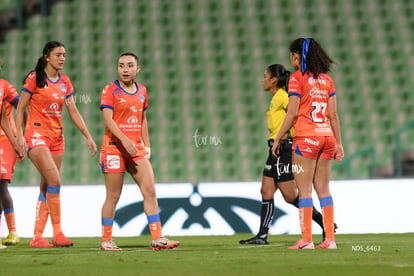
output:
[[[335,137],[333,136],[299,136],[293,137],[292,150],[297,155],[318,159],[333,159],[335,155]]]

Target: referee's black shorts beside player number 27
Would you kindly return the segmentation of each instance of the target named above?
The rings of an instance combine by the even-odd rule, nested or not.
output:
[[[269,146],[269,156],[263,170],[263,176],[272,177],[275,183],[293,180],[292,172],[292,138],[284,140],[280,144],[279,156],[272,154],[273,139],[267,141]]]

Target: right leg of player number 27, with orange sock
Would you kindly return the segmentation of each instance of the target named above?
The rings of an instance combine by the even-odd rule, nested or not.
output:
[[[319,158],[315,176],[314,187],[318,194],[319,202],[323,212],[323,224],[326,238],[316,248],[336,248],[335,244],[335,226],[334,226],[334,205],[332,195],[329,189],[329,180],[331,174],[332,159]]]

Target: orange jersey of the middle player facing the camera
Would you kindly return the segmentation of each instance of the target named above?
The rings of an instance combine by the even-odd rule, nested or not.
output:
[[[125,136],[137,146],[139,153],[145,148],[141,141],[141,127],[143,112],[148,108],[147,88],[135,83],[136,91],[125,91],[118,80],[105,86],[102,91],[100,108],[109,108],[113,111],[113,120]],[[116,149],[116,148],[117,149]],[[123,151],[119,140],[105,127],[102,140],[102,152]]]

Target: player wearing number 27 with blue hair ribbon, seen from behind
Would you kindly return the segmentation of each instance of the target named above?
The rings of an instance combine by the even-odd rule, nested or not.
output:
[[[289,104],[286,118],[275,138],[272,153],[281,150],[283,135],[292,125],[294,176],[299,189],[299,219],[302,239],[289,249],[313,249],[312,184],[323,211],[326,239],[316,248],[335,249],[334,208],[329,190],[332,159],[344,157],[336,91],[327,74],[333,60],[313,38],[298,38],[289,47],[295,70],[289,80]]]

